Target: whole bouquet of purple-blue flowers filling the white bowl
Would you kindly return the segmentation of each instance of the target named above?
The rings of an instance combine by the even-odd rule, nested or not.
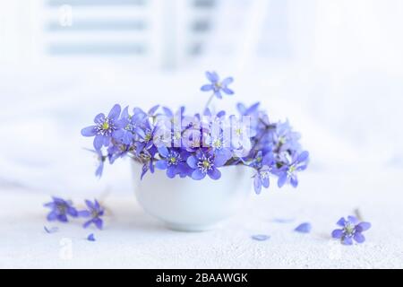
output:
[[[97,176],[102,175],[105,161],[130,157],[142,164],[141,178],[154,169],[166,170],[168,178],[201,180],[221,177],[220,169],[244,165],[254,170],[256,193],[270,186],[270,177],[278,178],[278,186],[298,185],[297,172],[305,170],[309,153],[300,145],[300,135],[288,122],[271,122],[260,104],[237,105],[238,115],[214,112],[211,100],[232,95],[228,88],[233,78],[219,79],[207,72],[210,83],[201,91],[211,96],[202,113],[186,115],[184,107],[176,112],[155,106],[149,111],[115,105],[106,116],[99,114],[94,125],[81,130],[83,136],[94,137],[94,151],[99,156]]]

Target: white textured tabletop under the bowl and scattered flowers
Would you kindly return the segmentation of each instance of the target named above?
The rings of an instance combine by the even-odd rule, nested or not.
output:
[[[385,185],[401,175],[401,170],[384,170],[376,177],[369,170],[359,175],[311,170],[301,177],[298,190],[272,188],[262,196],[253,195],[239,216],[218,230],[202,233],[166,230],[141,211],[131,187],[107,197],[114,215],[102,231],[82,230],[79,222],[47,224],[41,206],[47,195],[1,190],[0,267],[403,267],[401,187]],[[373,228],[365,233],[363,245],[341,246],[330,239],[330,232],[340,216],[356,207]],[[295,221],[273,222],[275,218]],[[312,222],[312,233],[293,232],[300,222]],[[60,230],[47,234],[44,224]],[[86,240],[90,232],[96,242]],[[250,239],[260,233],[271,238]],[[61,244],[68,240],[71,258],[61,256],[65,250]]]

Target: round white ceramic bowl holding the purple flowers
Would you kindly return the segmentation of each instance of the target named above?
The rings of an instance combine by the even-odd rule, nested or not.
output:
[[[133,161],[134,174],[141,165]],[[252,191],[251,169],[221,168],[221,178],[167,178],[165,170],[147,173],[135,182],[135,195],[142,208],[169,229],[202,231],[214,228],[240,210]]]

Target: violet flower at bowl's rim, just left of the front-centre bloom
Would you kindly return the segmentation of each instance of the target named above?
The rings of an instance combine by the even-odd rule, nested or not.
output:
[[[159,147],[159,155],[162,160],[156,161],[155,166],[159,170],[167,170],[168,178],[175,178],[176,174],[185,177],[189,173],[189,168],[186,165],[187,153],[168,150],[167,147]]]

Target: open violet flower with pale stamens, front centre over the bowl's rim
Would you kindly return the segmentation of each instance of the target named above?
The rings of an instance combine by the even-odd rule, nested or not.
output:
[[[199,150],[195,155],[188,157],[186,162],[193,169],[192,178],[194,180],[201,180],[206,175],[214,180],[221,178],[221,172],[217,169],[219,165],[211,152]]]

